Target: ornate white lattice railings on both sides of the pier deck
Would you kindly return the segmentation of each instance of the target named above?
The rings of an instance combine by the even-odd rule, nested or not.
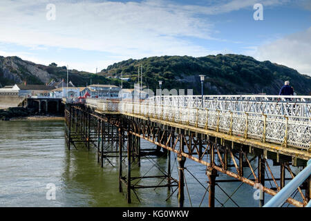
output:
[[[288,98],[285,96],[206,96],[204,107],[200,106],[201,99],[198,96],[151,97],[144,102],[87,99],[86,103],[101,111],[144,115],[308,150],[311,147],[311,96],[292,97],[296,99],[294,104],[285,102]],[[247,104],[247,99],[252,104]],[[283,102],[281,105],[279,99]],[[294,112],[277,110],[282,106],[292,108]],[[296,111],[295,108],[300,108],[301,111]]]

